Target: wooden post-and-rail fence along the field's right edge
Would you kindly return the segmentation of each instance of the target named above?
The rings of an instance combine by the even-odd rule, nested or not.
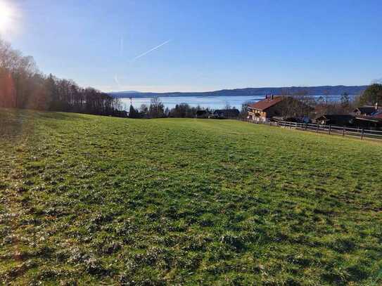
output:
[[[298,122],[255,122],[253,120],[244,119],[246,122],[255,124],[267,124],[270,126],[278,126],[284,129],[298,129],[303,131],[311,131],[316,133],[324,133],[329,135],[340,136],[355,136],[361,139],[371,138],[382,140],[382,131],[354,128],[348,126],[335,126],[335,125],[322,125],[312,123],[298,123]]]

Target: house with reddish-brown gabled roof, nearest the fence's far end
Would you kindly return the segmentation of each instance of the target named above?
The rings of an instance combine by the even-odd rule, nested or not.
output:
[[[266,96],[265,99],[248,105],[248,119],[256,122],[266,122],[272,117],[282,115],[281,102],[284,96]]]

